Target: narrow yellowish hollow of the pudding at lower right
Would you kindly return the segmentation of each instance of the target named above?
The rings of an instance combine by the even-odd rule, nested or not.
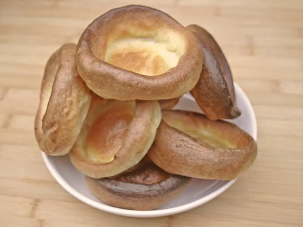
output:
[[[162,118],[165,122],[179,131],[184,132],[185,134],[191,136],[192,138],[198,139],[205,142],[211,147],[214,148],[237,148],[237,143],[233,143],[228,139],[228,136],[224,136],[224,128],[212,127],[211,124],[204,124],[204,121],[199,122],[198,117],[190,116],[175,116],[171,115],[162,115]],[[214,123],[214,122],[212,122]],[[228,132],[227,132],[228,133]]]

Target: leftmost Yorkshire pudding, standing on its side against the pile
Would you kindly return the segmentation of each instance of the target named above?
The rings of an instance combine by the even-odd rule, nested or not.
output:
[[[64,44],[48,59],[35,118],[35,137],[48,155],[67,154],[87,115],[91,95],[77,73],[76,44]]]

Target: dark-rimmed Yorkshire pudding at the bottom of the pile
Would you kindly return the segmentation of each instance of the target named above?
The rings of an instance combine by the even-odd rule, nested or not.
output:
[[[147,162],[117,177],[85,180],[92,194],[111,206],[152,210],[183,192],[191,178],[167,173]]]

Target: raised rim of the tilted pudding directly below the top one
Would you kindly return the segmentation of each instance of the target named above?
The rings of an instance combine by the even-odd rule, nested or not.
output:
[[[106,104],[105,104],[106,105]],[[92,178],[118,175],[138,164],[147,154],[161,122],[161,109],[158,101],[136,101],[135,116],[127,129],[122,147],[110,163],[98,163],[85,154],[85,122],[69,153],[72,164],[83,174]]]

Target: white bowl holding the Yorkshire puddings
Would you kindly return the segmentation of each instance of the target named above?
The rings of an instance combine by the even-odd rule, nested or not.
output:
[[[228,121],[235,123],[240,128],[247,131],[256,140],[257,122],[251,103],[243,90],[236,83],[235,93],[237,106],[242,114],[237,119]],[[184,95],[175,109],[201,112],[190,94]],[[90,206],[122,216],[159,217],[185,212],[214,199],[236,181],[236,179],[231,181],[193,179],[188,188],[181,195],[156,210],[128,210],[109,206],[95,198],[88,190],[83,174],[75,169],[70,162],[68,155],[52,157],[42,152],[42,156],[52,176],[66,191]]]

